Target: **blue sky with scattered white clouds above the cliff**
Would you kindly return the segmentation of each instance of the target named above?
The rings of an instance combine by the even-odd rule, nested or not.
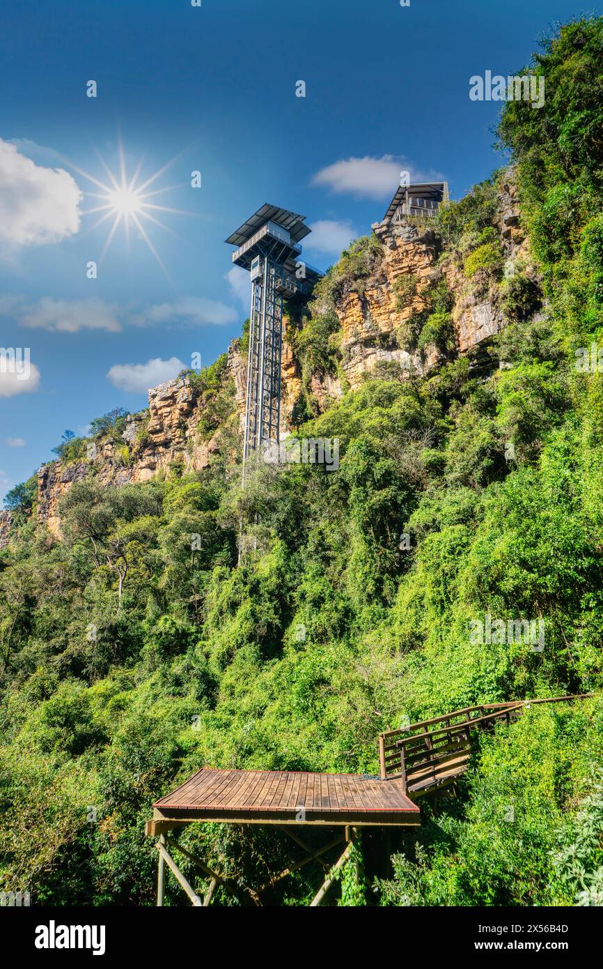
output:
[[[397,172],[441,175],[460,198],[502,159],[497,103],[468,78],[518,71],[570,0],[39,0],[0,35],[0,345],[30,376],[0,374],[0,496],[50,458],[69,427],[226,350],[248,314],[226,235],[264,203],[315,226],[325,269],[380,219]],[[86,96],[96,80],[97,97]],[[295,96],[304,80],[306,97]],[[118,176],[121,139],[165,228],[123,222],[80,193]],[[201,172],[201,188],[191,173]],[[166,191],[163,191],[166,189]],[[109,200],[113,203],[115,200]],[[96,279],[87,278],[90,261]],[[242,270],[241,270],[242,271]],[[107,376],[108,375],[108,376]]]

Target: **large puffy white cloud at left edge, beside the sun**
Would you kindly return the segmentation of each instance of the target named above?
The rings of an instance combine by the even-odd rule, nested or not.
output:
[[[59,242],[79,230],[81,191],[64,169],[48,169],[0,139],[0,246]]]

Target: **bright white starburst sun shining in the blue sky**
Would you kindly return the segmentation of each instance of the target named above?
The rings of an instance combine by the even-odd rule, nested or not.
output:
[[[131,231],[136,231],[138,236],[146,243],[149,250],[152,252],[153,256],[169,279],[166,266],[164,266],[164,263],[162,262],[142,222],[143,220],[145,222],[151,222],[166,232],[171,233],[172,230],[160,222],[160,220],[157,218],[155,214],[156,212],[175,212],[179,215],[195,214],[193,212],[187,212],[181,208],[170,208],[167,205],[158,205],[155,202],[157,196],[162,195],[165,192],[173,191],[174,189],[179,188],[179,185],[167,185],[165,188],[156,188],[152,191],[147,191],[149,186],[152,185],[153,182],[155,182],[161,175],[163,175],[170,165],[180,158],[180,155],[176,155],[175,158],[172,158],[161,169],[158,169],[157,172],[154,172],[154,174],[150,175],[145,179],[145,181],[140,183],[140,172],[144,159],[140,159],[134,174],[132,177],[130,177],[126,171],[126,159],[121,140],[119,141],[118,173],[111,172],[101,153],[96,148],[95,151],[106,172],[108,183],[102,182],[99,178],[95,178],[94,175],[91,175],[89,172],[84,172],[82,169],[77,168],[77,166],[75,166],[72,162],[68,162],[68,164],[74,169],[75,172],[82,174],[101,190],[100,192],[84,192],[84,196],[99,200],[99,204],[93,205],[92,208],[82,212],[82,215],[92,215],[97,212],[102,213],[94,225],[89,227],[88,232],[92,232],[94,229],[97,229],[98,226],[102,225],[104,222],[109,222],[108,234],[106,236],[103,252],[101,253],[101,259],[103,259],[106,255],[111,241],[113,240],[117,229],[121,225],[125,230],[128,244],[130,244]]]

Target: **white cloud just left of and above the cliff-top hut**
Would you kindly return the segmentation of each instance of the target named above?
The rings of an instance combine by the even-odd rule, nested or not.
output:
[[[313,185],[323,185],[338,194],[350,193],[368,199],[388,199],[400,184],[401,172],[408,172],[411,182],[439,177],[425,174],[411,166],[404,156],[382,155],[374,158],[347,158],[320,169],[312,179]]]

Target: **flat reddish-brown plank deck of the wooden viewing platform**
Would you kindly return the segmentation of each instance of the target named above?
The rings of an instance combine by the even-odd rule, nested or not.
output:
[[[203,767],[153,805],[149,834],[193,821],[233,824],[418,825],[398,779],[364,774]]]

